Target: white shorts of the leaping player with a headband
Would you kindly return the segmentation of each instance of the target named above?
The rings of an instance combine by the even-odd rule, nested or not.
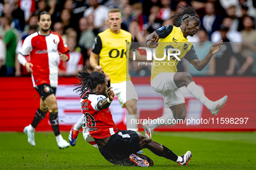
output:
[[[164,106],[171,106],[185,103],[185,98],[180,89],[175,85],[173,76],[176,72],[161,72],[151,81],[154,91],[160,93],[164,99]]]

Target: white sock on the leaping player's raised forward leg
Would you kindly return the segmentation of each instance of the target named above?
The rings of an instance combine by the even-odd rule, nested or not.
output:
[[[209,110],[212,110],[214,102],[205,97],[204,92],[198,85],[196,85],[194,82],[191,82],[187,86],[187,90],[192,96],[194,96],[194,98],[198,99],[198,101],[204,104],[204,106],[206,106]]]

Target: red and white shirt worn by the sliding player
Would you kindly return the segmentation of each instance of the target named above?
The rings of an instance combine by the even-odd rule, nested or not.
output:
[[[84,114],[84,139],[94,147],[97,147],[97,145],[93,138],[104,139],[119,131],[113,121],[109,107],[102,110],[97,108],[98,103],[104,98],[106,98],[104,95],[87,92],[80,101]]]

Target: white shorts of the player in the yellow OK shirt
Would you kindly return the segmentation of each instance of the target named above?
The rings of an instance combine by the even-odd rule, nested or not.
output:
[[[113,87],[112,90],[114,94],[117,95],[117,98],[122,107],[125,107],[126,101],[131,99],[138,100],[138,95],[131,81],[111,83],[110,86]]]

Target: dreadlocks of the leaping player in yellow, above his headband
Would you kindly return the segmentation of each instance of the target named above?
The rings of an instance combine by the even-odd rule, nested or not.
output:
[[[176,26],[176,27],[181,26],[181,19],[184,15],[196,14],[196,12],[192,6],[186,7],[181,4],[181,6],[179,6],[179,8],[181,10],[178,13],[174,13],[174,15],[170,17],[170,19],[175,18],[173,20],[173,22],[174,22],[174,26]]]

